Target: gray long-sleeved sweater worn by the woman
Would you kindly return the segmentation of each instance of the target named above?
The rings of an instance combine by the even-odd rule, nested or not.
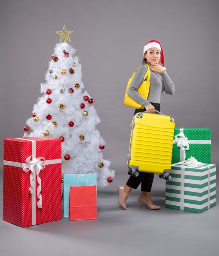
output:
[[[147,63],[149,64],[149,63]],[[127,94],[134,99],[134,101],[141,104],[145,108],[150,102],[153,103],[160,103],[161,102],[161,94],[163,91],[167,94],[173,94],[175,90],[175,85],[171,81],[170,77],[168,76],[167,72],[164,71],[163,73],[157,73],[151,70],[150,74],[150,90],[147,97],[147,100],[144,99],[138,92],[138,89],[143,82],[145,73],[147,72],[147,66],[142,65],[136,70],[132,82],[127,90]],[[147,78],[146,78],[147,80]]]

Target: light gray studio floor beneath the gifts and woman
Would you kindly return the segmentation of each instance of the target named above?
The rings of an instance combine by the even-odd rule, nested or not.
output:
[[[165,181],[155,176],[152,198],[162,206],[139,209],[140,190],[132,191],[127,210],[112,189],[124,182],[125,172],[98,190],[98,219],[49,222],[27,228],[0,219],[1,256],[181,256],[219,255],[219,206],[201,214],[165,208]],[[0,174],[2,198],[2,171]],[[219,192],[217,191],[217,196]],[[0,204],[2,213],[2,200]]]

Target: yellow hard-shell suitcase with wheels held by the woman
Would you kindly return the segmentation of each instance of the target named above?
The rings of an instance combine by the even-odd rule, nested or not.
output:
[[[134,115],[131,124],[128,174],[135,177],[140,172],[160,173],[160,178],[171,180],[174,119],[155,110]]]

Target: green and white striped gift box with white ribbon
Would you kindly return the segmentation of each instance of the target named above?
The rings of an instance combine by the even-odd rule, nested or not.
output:
[[[216,204],[216,164],[188,167],[172,164],[166,181],[167,208],[202,213]]]

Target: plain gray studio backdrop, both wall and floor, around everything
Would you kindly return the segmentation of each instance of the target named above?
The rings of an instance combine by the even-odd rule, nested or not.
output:
[[[25,229],[0,220],[2,255],[29,255],[30,250],[36,255],[38,243],[47,255],[218,254],[217,206],[202,214],[165,209],[165,182],[158,176],[152,197],[162,206],[159,211],[137,209],[139,189],[132,192],[127,211],[118,207],[116,194],[110,192],[128,177],[126,154],[134,110],[123,106],[123,98],[149,40],[161,42],[165,67],[176,86],[174,95],[162,95],[161,112],[174,117],[176,127],[209,127],[212,163],[218,164],[218,13],[216,0],[1,3],[1,141],[22,136],[60,39],[55,31],[65,24],[74,30],[71,45],[82,63],[85,89],[102,119],[97,128],[106,141],[105,158],[116,171],[114,182],[98,191],[98,220],[63,219]],[[2,159],[3,146],[0,150]],[[2,197],[2,171],[0,192]]]

